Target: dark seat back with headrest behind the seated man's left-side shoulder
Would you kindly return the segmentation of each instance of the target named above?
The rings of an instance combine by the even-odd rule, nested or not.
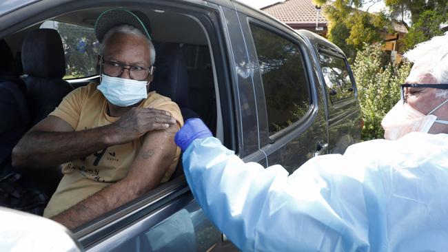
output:
[[[32,125],[48,116],[73,87],[62,79],[65,55],[57,30],[39,29],[28,34],[22,46],[23,80]]]

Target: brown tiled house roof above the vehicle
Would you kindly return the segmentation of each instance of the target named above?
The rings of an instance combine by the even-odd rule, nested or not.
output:
[[[286,0],[262,8],[283,23],[316,23],[317,10],[312,0]],[[320,10],[318,23],[328,23]]]

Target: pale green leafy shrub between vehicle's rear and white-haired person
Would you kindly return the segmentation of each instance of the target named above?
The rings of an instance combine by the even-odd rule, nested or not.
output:
[[[409,63],[384,66],[383,59],[379,43],[365,44],[353,65],[364,120],[363,140],[384,137],[381,120],[400,99],[400,85],[405,83],[411,69]]]

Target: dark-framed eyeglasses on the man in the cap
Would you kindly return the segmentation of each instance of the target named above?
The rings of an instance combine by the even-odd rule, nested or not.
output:
[[[154,72],[154,67],[139,67],[137,65],[125,65],[114,61],[105,61],[101,56],[100,66],[103,73],[111,77],[119,77],[123,71],[127,69],[129,76],[136,81],[144,81],[148,76]]]

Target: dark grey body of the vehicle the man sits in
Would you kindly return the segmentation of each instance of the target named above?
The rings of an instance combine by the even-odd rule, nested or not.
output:
[[[43,21],[92,28],[103,10],[118,6],[144,12],[161,47],[181,48],[187,77],[174,85],[187,85],[187,94],[165,95],[183,100],[246,162],[280,164],[292,172],[313,156],[343,153],[360,140],[357,90],[343,52],[238,1],[2,1],[0,38],[17,54],[26,34]],[[156,66],[163,57],[158,52]],[[156,74],[169,77],[165,68]],[[78,87],[96,78],[85,77],[69,82]],[[231,246],[204,216],[182,174],[73,233],[86,251]]]

